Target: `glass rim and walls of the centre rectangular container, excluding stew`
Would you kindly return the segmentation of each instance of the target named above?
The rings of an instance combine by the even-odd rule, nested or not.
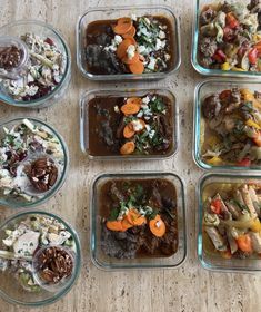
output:
[[[173,128],[172,133],[172,146],[168,154],[164,155],[112,155],[112,156],[94,156],[90,154],[89,150],[89,115],[88,115],[88,103],[98,96],[103,97],[141,97],[147,94],[158,94],[165,96],[170,99],[172,116],[171,124]],[[88,155],[90,159],[100,159],[100,160],[122,160],[122,159],[162,159],[173,156],[178,152],[179,145],[179,108],[175,96],[168,89],[108,89],[108,90],[92,90],[87,91],[81,96],[80,99],[80,142],[81,149]]]

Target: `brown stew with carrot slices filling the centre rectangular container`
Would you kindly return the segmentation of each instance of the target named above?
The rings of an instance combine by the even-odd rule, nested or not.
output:
[[[173,148],[173,103],[167,96],[96,96],[88,103],[92,156],[168,155]]]

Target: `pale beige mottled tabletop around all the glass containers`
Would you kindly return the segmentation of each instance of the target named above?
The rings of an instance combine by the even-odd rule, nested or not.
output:
[[[172,89],[180,106],[179,153],[174,158],[153,162],[89,162],[80,150],[79,97],[84,90],[100,87],[128,87],[130,84],[98,84],[82,78],[76,66],[76,22],[89,7],[114,4],[172,6],[181,22],[182,65],[178,74],[157,82],[131,86],[159,86]],[[56,126],[64,137],[70,152],[70,170],[66,184],[41,208],[60,214],[76,226],[83,253],[80,277],[62,300],[37,309],[44,312],[169,312],[169,311],[261,311],[261,276],[254,274],[227,274],[204,271],[197,259],[197,205],[194,201],[198,178],[203,174],[193,163],[192,106],[193,90],[202,77],[190,64],[192,0],[133,1],[117,0],[0,0],[0,26],[18,19],[38,19],[59,29],[69,42],[72,53],[72,79],[63,99],[42,110],[24,110],[1,105],[0,117],[37,116]],[[103,272],[96,269],[89,253],[89,194],[90,181],[106,170],[159,169],[174,170],[187,183],[188,259],[179,270]],[[0,221],[14,213],[1,208]],[[0,312],[26,312],[32,309],[11,305],[0,299]]]

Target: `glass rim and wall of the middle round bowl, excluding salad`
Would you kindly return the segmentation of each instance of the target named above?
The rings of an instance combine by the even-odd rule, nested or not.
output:
[[[4,120],[2,123],[0,121],[0,140],[4,136],[7,136],[7,134],[4,133],[4,129],[10,130],[14,126],[22,124],[22,121],[24,119],[29,120],[31,124],[36,125],[37,127],[43,129],[44,131],[47,131],[48,134],[53,136],[53,138],[56,138],[59,142],[61,153],[63,156],[61,157],[60,166],[58,169],[58,177],[56,179],[56,183],[47,192],[42,192],[42,193],[38,193],[38,194],[37,193],[28,194],[28,195],[37,195],[37,196],[32,196],[31,201],[29,201],[27,198],[27,196],[26,197],[10,196],[10,194],[4,195],[4,193],[1,192],[1,187],[0,187],[0,205],[11,207],[11,208],[34,207],[34,206],[38,206],[38,205],[47,202],[48,199],[50,199],[63,185],[66,177],[67,177],[68,166],[69,166],[69,152],[68,152],[67,144],[64,143],[63,138],[59,135],[59,133],[56,129],[53,129],[50,125],[46,124],[44,121],[42,121],[40,119],[19,117],[19,118],[14,118],[14,119]],[[1,143],[0,143],[0,148],[1,148]],[[34,155],[37,155],[37,153],[30,154],[30,156],[28,155],[22,162],[20,162],[19,167],[21,164],[30,162],[30,159],[34,160],[33,159]],[[42,153],[42,154],[39,154],[39,157],[37,157],[37,158],[41,158],[42,155],[46,155],[46,157],[50,157],[50,158],[52,157],[49,154]],[[3,169],[3,166],[0,163],[0,170],[1,169]],[[17,173],[18,172],[19,170],[17,169]],[[0,182],[1,182],[1,179],[0,179]]]

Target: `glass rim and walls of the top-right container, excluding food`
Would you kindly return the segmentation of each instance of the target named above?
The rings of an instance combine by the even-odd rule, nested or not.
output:
[[[215,4],[221,1],[217,0],[193,0],[193,28],[192,28],[192,49],[191,49],[191,62],[194,69],[204,76],[221,76],[221,77],[237,77],[237,78],[259,78],[261,79],[261,71],[254,72],[254,71],[233,71],[233,70],[221,70],[221,69],[211,69],[211,68],[205,68],[200,65],[199,62],[199,53],[198,53],[198,45],[199,45],[199,19],[200,19],[200,13],[202,9],[205,6],[209,4]],[[228,2],[232,2],[229,0]],[[245,3],[245,1],[239,0],[238,2]],[[250,1],[249,1],[250,2]]]

